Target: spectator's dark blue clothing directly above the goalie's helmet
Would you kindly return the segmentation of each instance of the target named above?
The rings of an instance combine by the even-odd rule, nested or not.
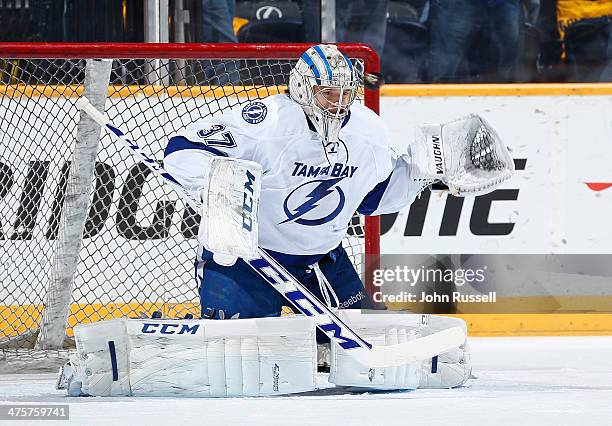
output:
[[[382,57],[388,0],[336,0],[336,41],[365,43]]]

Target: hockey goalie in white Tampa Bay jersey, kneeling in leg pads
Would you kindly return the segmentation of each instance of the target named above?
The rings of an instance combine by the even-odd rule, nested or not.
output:
[[[259,248],[373,345],[458,324],[465,330],[454,318],[361,313],[368,295],[341,241],[355,212],[397,212],[433,183],[456,196],[490,192],[514,173],[512,158],[476,115],[419,127],[396,153],[382,120],[354,102],[362,78],[336,46],[313,46],[291,71],[288,93],[202,119],[169,140],[164,167],[202,205],[201,319],[77,327],[78,354],[60,377],[70,394],[313,390],[317,340],[326,336],[248,264]],[[471,371],[467,342],[386,368],[370,368],[335,343],[327,356],[337,386],[449,388]]]

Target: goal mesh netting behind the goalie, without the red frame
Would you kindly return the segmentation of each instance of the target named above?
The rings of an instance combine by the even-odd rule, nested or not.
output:
[[[0,59],[0,350],[28,361],[49,291],[82,94],[83,59]],[[291,61],[113,60],[106,113],[155,158],[206,116],[285,90]],[[70,295],[72,327],[119,316],[199,315],[199,217],[102,133]],[[69,220],[66,219],[66,220]],[[361,272],[364,227],[344,242]],[[27,354],[27,355],[24,355]],[[1,360],[1,359],[0,359]],[[46,363],[46,364],[45,364]]]

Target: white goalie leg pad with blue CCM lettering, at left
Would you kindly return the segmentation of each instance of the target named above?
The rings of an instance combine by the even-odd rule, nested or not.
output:
[[[117,319],[81,325],[75,338],[87,395],[237,397],[315,388],[310,318]]]

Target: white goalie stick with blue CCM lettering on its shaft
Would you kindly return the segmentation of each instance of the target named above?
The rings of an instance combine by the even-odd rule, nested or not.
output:
[[[176,189],[192,208],[196,211],[200,210],[202,204],[200,200],[193,197],[156,160],[149,157],[121,130],[113,126],[108,117],[98,111],[87,98],[79,98],[76,107],[131,149],[132,153],[155,175],[163,177],[167,183]],[[396,367],[432,358],[458,347],[465,340],[463,329],[452,327],[409,342],[389,346],[372,346],[286,271],[266,250],[259,247],[257,257],[244,259],[244,261],[291,302],[300,313],[312,317],[317,327],[332,341],[336,342],[357,361],[370,368]]]

